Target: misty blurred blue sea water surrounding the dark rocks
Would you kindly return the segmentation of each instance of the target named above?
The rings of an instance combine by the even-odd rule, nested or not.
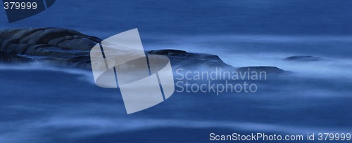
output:
[[[175,93],[125,114],[92,73],[0,65],[0,142],[207,142],[209,134],[352,133],[352,1],[56,1],[0,28],[63,27],[105,39],[138,28],[146,50],[219,55],[234,67],[292,71],[258,93]],[[329,62],[286,62],[313,55]],[[318,142],[318,141],[317,141]],[[340,141],[342,142],[342,141]],[[345,141],[346,142],[346,141]]]

